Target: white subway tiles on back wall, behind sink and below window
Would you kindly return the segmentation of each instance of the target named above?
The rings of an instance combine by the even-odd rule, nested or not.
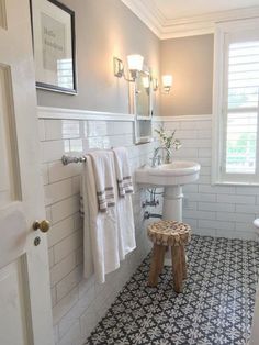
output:
[[[176,137],[182,142],[182,147],[173,157],[201,164],[200,179],[183,187],[183,221],[190,223],[196,234],[257,240],[252,221],[259,216],[259,187],[212,186],[212,121],[188,118],[156,124],[167,130],[177,129]]]

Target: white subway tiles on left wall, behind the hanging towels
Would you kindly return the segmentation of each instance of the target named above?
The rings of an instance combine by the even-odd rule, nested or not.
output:
[[[63,166],[63,154],[80,156],[90,148],[127,146],[132,169],[150,158],[154,144],[134,145],[133,123],[117,121],[40,120],[42,176],[47,218],[55,344],[81,345],[117,292],[150,251],[140,204],[147,196],[135,188],[133,209],[137,248],[121,268],[99,285],[82,278],[82,220],[79,215],[80,164]],[[69,151],[69,152],[68,152]]]

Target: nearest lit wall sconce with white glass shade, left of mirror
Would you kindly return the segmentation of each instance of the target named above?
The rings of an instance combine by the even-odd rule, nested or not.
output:
[[[113,57],[114,76],[117,78],[124,77],[125,80],[134,82],[137,77],[137,73],[143,70],[144,57],[138,54],[127,56],[127,66],[131,74],[131,78],[126,78],[123,60],[117,57]]]

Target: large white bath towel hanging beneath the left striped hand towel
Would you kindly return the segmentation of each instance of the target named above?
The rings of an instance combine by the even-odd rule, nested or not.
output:
[[[114,167],[111,175],[114,175]],[[105,213],[99,212],[95,188],[95,171],[92,158],[86,156],[82,171],[83,192],[83,237],[85,237],[85,277],[92,272],[90,255],[94,267],[94,274],[99,282],[105,281],[105,275],[120,266],[119,233],[116,209],[108,208]],[[91,248],[90,248],[91,246]]]

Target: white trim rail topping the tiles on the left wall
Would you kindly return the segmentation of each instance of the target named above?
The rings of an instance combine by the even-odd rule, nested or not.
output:
[[[123,113],[111,113],[101,111],[64,109],[52,107],[37,107],[38,119],[52,120],[95,120],[95,121],[123,121],[134,122],[135,115]]]

